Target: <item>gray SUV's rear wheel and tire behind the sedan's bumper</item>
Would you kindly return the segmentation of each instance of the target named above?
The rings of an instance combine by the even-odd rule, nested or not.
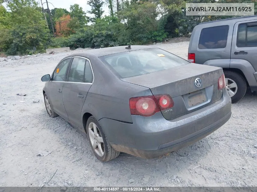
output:
[[[234,88],[232,89],[229,85],[233,83],[233,81],[237,85],[236,93],[234,94],[234,96],[231,96],[232,103],[236,103],[245,96],[246,89],[247,89],[245,78],[241,76],[239,73],[234,71],[224,70],[224,75],[226,78],[226,89],[228,90],[228,93],[230,96],[232,95],[232,92],[235,89]]]

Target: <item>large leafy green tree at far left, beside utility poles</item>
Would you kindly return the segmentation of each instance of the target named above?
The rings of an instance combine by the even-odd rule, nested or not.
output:
[[[7,7],[11,10],[11,28],[6,39],[12,42],[8,41],[4,51],[10,55],[43,51],[49,40],[49,29],[36,1],[12,0],[7,2]]]

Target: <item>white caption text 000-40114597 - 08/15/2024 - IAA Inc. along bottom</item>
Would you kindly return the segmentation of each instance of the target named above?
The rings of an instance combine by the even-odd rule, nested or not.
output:
[[[158,187],[94,187],[94,191],[160,191]]]

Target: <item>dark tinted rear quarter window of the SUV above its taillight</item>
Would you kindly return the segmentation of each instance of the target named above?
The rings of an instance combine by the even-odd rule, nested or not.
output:
[[[220,49],[227,44],[228,25],[204,28],[201,31],[199,49]]]

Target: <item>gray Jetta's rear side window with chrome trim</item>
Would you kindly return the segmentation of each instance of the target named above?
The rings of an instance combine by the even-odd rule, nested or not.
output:
[[[88,60],[84,58],[73,58],[68,75],[68,82],[92,83],[93,73]]]

